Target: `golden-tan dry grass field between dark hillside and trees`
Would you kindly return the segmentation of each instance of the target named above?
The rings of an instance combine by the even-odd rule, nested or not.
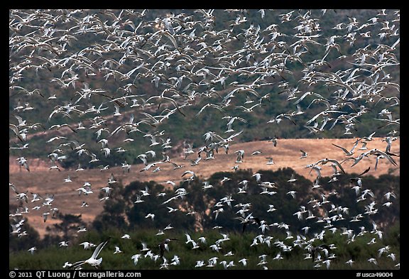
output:
[[[121,167],[110,168],[101,172],[99,169],[84,170],[75,172],[75,170],[49,170],[49,162],[47,160],[32,159],[29,160],[31,172],[28,173],[25,169],[20,169],[16,163],[16,158],[10,158],[9,162],[9,181],[16,185],[17,189],[21,192],[28,190],[28,192],[36,192],[40,195],[46,193],[55,194],[55,201],[53,205],[60,209],[62,213],[70,214],[82,214],[84,221],[92,221],[94,217],[99,214],[103,209],[103,202],[99,201],[98,194],[99,188],[107,185],[111,173],[114,173],[116,180],[121,180],[124,185],[128,185],[129,182],[134,180],[150,181],[154,180],[158,183],[165,182],[166,180],[173,180],[173,182],[180,182],[182,180],[182,173],[185,170],[192,170],[197,176],[206,178],[213,173],[220,171],[233,172],[231,168],[234,165],[239,165],[240,169],[251,169],[253,173],[258,170],[278,170],[279,168],[293,168],[296,173],[303,175],[307,179],[314,180],[315,173],[310,173],[310,168],[305,168],[306,165],[315,163],[317,160],[323,158],[332,158],[336,160],[344,160],[348,156],[344,155],[343,151],[332,143],[338,146],[343,146],[347,150],[350,150],[354,144],[354,139],[279,139],[278,145],[273,146],[270,141],[254,141],[249,143],[236,143],[232,144],[229,148],[229,154],[224,154],[224,151],[215,155],[214,160],[201,160],[199,165],[191,166],[190,162],[180,158],[171,158],[173,162],[185,165],[184,168],[173,170],[173,166],[170,164],[160,165],[158,173],[152,173],[151,170],[140,172],[143,165],[132,165],[130,173],[124,174]],[[378,148],[384,151],[386,148],[386,142],[382,141],[382,138],[373,138],[373,141],[368,142],[367,150],[360,151],[361,143],[356,147],[353,155],[356,158],[360,153],[366,152],[372,148]],[[308,153],[307,158],[300,158],[300,149]],[[236,154],[234,151],[244,150],[243,163],[236,164]],[[258,155],[251,155],[253,151],[261,151]],[[395,154],[400,153],[400,140],[393,142],[391,152]],[[266,165],[268,159],[266,157],[272,157],[274,164]],[[195,154],[192,154],[189,158],[195,158]],[[388,160],[379,160],[377,170],[374,169],[375,156],[369,156],[369,158],[363,158],[361,162],[354,167],[350,167],[353,161],[349,160],[342,164],[346,173],[361,173],[366,168],[371,166],[371,170],[366,175],[373,175],[378,177],[379,175],[391,173],[393,175],[400,175],[400,158],[394,157],[398,167],[393,166]],[[332,168],[329,164],[322,165],[322,175],[329,176],[332,174]],[[64,179],[70,175],[72,182],[64,182]],[[290,178],[290,177],[289,177]],[[84,182],[89,182],[92,185],[94,194],[88,196],[78,196],[77,188],[82,187]],[[29,196],[31,198],[31,195]],[[82,202],[85,201],[89,204],[89,207],[81,207]],[[9,202],[11,204],[16,203],[16,197],[13,191],[9,191]],[[28,202],[29,209],[31,202]],[[58,220],[48,219],[43,222],[41,212],[38,214],[35,211],[31,211],[28,214],[28,222],[33,226],[40,236],[45,234],[46,226],[50,226],[53,222]]]

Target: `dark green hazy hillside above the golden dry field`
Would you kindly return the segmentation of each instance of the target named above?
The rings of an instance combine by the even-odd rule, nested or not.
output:
[[[124,145],[124,148],[128,148],[129,153],[133,155],[133,157],[127,156],[126,160],[129,163],[136,163],[136,160],[131,161],[132,158],[136,158],[137,154],[148,148],[148,138],[144,137],[146,133],[165,131],[163,138],[170,137],[174,144],[187,140],[195,145],[202,145],[203,133],[214,131],[222,134],[226,131],[227,116],[239,116],[245,119],[245,123],[235,121],[233,126],[236,131],[244,131],[241,134],[241,142],[266,140],[274,135],[282,138],[346,137],[343,121],[338,119],[339,113],[330,113],[329,119],[320,116],[310,124],[306,124],[313,116],[329,107],[337,108],[336,110],[343,111],[342,114],[346,114],[348,119],[350,117],[353,119],[356,125],[354,136],[357,137],[369,135],[373,131],[377,131],[376,136],[386,136],[391,129],[396,128],[396,123],[391,123],[393,125],[390,126],[382,125],[387,122],[384,119],[386,115],[381,114],[381,111],[387,108],[392,119],[399,118],[400,106],[393,104],[395,102],[393,99],[389,99],[389,97],[399,98],[399,87],[393,85],[400,82],[398,64],[400,45],[396,44],[398,38],[395,34],[388,35],[382,40],[378,38],[376,33],[381,32],[383,27],[383,24],[378,23],[366,27],[363,25],[359,29],[359,33],[364,33],[368,29],[372,32],[373,38],[356,35],[354,44],[351,44],[347,38],[357,32],[352,32],[351,28],[342,30],[334,28],[338,23],[349,26],[352,18],[356,18],[359,23],[366,23],[369,18],[376,16],[378,13],[376,10],[328,10],[325,14],[320,10],[300,10],[292,12],[292,21],[283,22],[281,22],[282,15],[291,12],[290,10],[266,10],[263,18],[258,10],[214,10],[214,18],[212,18],[214,26],[210,29],[203,27],[202,21],[205,20],[201,16],[203,11],[148,10],[135,11],[132,14],[129,11],[119,10],[111,13],[78,10],[70,11],[71,15],[60,15],[65,12],[67,11],[48,11],[53,18],[59,18],[59,28],[62,29],[61,31],[59,28],[56,29],[54,39],[58,39],[61,32],[65,32],[63,30],[70,30],[64,35],[64,38],[65,36],[71,38],[68,42],[58,40],[58,43],[55,43],[52,40],[55,43],[53,48],[58,48],[61,52],[55,57],[54,53],[49,53],[47,50],[42,52],[38,50],[37,55],[26,59],[29,57],[31,48],[34,47],[31,44],[25,45],[20,40],[20,35],[31,34],[36,38],[41,37],[42,20],[39,20],[40,23],[31,23],[34,25],[30,28],[23,27],[18,33],[11,32],[10,35],[12,43],[10,43],[9,122],[18,125],[21,130],[27,129],[24,134],[30,145],[24,151],[26,156],[45,158],[58,148],[57,141],[43,145],[44,141],[50,140],[53,136],[67,136],[67,141],[87,143],[87,149],[97,154],[100,145],[96,140],[107,134],[102,133],[102,137],[96,138],[95,133],[100,128],[107,128],[108,132],[115,131],[120,124],[131,119],[131,114],[134,116],[135,123],[145,121],[145,124],[141,126],[135,124],[134,126],[138,126],[141,131],[126,136],[143,143],[138,146],[123,143],[124,132],[116,133],[109,138],[111,147]],[[10,13],[11,18],[14,13],[19,15],[18,10]],[[158,23],[156,18],[178,13],[181,13],[180,16],[186,16],[184,19],[186,23],[178,26],[180,21],[173,18],[173,28],[176,30],[175,40],[180,48],[185,48],[185,51],[182,55],[173,55],[173,44],[169,45],[167,36],[160,35],[157,38],[156,35],[152,37],[148,35],[158,28],[158,26],[155,26],[155,29],[152,27],[153,23]],[[77,30],[73,26],[77,21],[74,18],[85,20],[87,14],[93,15],[95,20],[99,19],[95,21],[97,23],[95,27],[98,30],[99,22],[112,24],[105,28],[104,32],[114,29],[115,26],[119,27],[119,30],[109,31],[109,33],[117,33],[115,39],[104,32],[94,35],[92,28],[84,33],[75,32]],[[121,23],[114,24],[116,19],[114,14],[121,18]],[[72,20],[62,21],[65,16],[71,16]],[[234,23],[236,18],[241,17],[246,20],[240,24]],[[135,30],[136,35],[129,33],[131,27],[127,25],[129,20],[135,25],[138,22],[141,23],[140,28]],[[388,16],[385,16],[381,22],[383,21],[393,22],[393,26],[399,28],[395,11],[388,11]],[[207,23],[207,21],[204,22]],[[317,31],[320,32],[308,31],[308,28],[305,32],[301,32],[297,28],[300,23],[301,26],[317,24]],[[84,23],[85,26],[88,24]],[[358,27],[357,25],[356,28]],[[227,30],[230,33],[225,37],[224,33]],[[35,33],[32,34],[32,31]],[[242,31],[246,32],[243,34]],[[285,35],[279,35],[281,33]],[[194,39],[186,40],[186,35],[193,36]],[[312,37],[304,42],[303,40],[309,36]],[[334,46],[339,48],[334,50],[329,48],[331,51],[328,53],[327,39],[334,36],[337,38],[337,44]],[[50,39],[44,40],[48,42]],[[105,44],[111,40],[113,40],[112,43]],[[160,44],[153,44],[156,41]],[[362,69],[354,70],[356,65],[352,64],[361,61],[361,48],[366,47],[367,43],[373,45],[375,53],[367,55],[368,63],[376,61],[380,51],[383,52],[381,47],[375,49],[374,45],[395,45],[393,55],[385,51],[384,56],[389,60],[391,60],[389,57],[393,57],[396,63],[383,67],[378,77],[369,75],[367,65],[362,66]],[[114,44],[121,48],[111,48]],[[250,48],[251,45],[253,47]],[[130,48],[135,57],[132,55],[127,58]],[[221,52],[221,49],[225,51]],[[155,55],[146,56],[146,53],[151,52]],[[348,55],[339,56],[340,54]],[[81,65],[79,61],[70,59],[77,56],[82,57],[82,60],[87,63],[92,62],[92,67],[84,61],[82,61],[84,65]],[[320,65],[320,60],[322,62],[325,60],[325,65]],[[133,68],[135,65],[138,67]],[[231,65],[244,72],[229,69]],[[279,75],[273,71],[278,68],[281,69]],[[311,70],[314,71],[311,72]],[[204,72],[208,74],[205,75]],[[310,77],[305,75],[306,73],[315,73],[315,75]],[[347,99],[344,97],[339,99],[337,94],[344,87],[339,84],[327,84],[324,78],[327,73],[337,73],[341,79],[352,82],[348,86],[356,87],[356,90],[366,87],[361,82],[367,84],[368,88],[363,90],[365,94],[359,95],[359,98],[348,95]],[[160,77],[159,80],[157,80],[158,77]],[[64,82],[70,80],[74,81],[70,83],[72,86],[66,86]],[[383,85],[385,81],[388,83]],[[376,90],[372,88],[373,84],[377,84]],[[27,92],[38,90],[40,94],[28,94],[25,90]],[[372,95],[372,91],[376,94]],[[305,96],[306,92],[320,94],[329,103],[323,103],[322,97],[317,99],[318,95]],[[160,102],[157,97],[163,94],[173,101],[165,99]],[[255,106],[251,113],[243,109],[243,106],[249,108],[258,102],[261,105]],[[178,110],[175,109],[175,104],[178,104]],[[199,116],[195,116],[200,109],[209,104],[215,106],[209,106]],[[116,113],[115,106],[118,105],[120,111]],[[222,110],[214,109],[217,106]],[[361,111],[362,106],[368,109]],[[59,109],[55,111],[55,108]],[[300,113],[299,109],[303,113]],[[185,117],[179,111],[182,111]],[[152,121],[152,118],[146,118],[146,113],[153,116],[156,121],[161,119],[161,124],[156,126],[157,131],[156,128],[146,125],[147,120],[148,123]],[[21,117],[21,121],[26,121],[28,127],[19,126],[20,121],[16,116]],[[290,117],[297,125],[292,125],[286,117]],[[107,126],[99,126],[103,123],[100,122],[102,119]],[[266,124],[271,120],[275,122]],[[283,121],[280,122],[280,120]],[[97,122],[99,122],[98,125]],[[45,130],[40,128],[40,125],[33,125],[37,123],[43,125]],[[309,133],[306,126],[313,126],[316,123],[320,129]],[[67,127],[51,128],[62,124],[68,124],[75,129],[81,124],[86,129],[73,133]],[[263,128],[259,128],[260,126]],[[383,128],[379,128],[380,126]],[[43,133],[44,131],[46,133]],[[21,143],[12,130],[9,131],[9,139],[10,146],[14,148]],[[13,155],[18,154],[13,153]],[[111,156],[109,161],[121,163],[124,158]],[[77,162],[65,163],[77,165]]]

